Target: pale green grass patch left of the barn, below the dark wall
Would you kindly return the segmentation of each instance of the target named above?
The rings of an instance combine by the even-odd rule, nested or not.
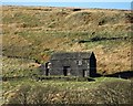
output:
[[[24,77],[39,74],[34,61],[27,59],[2,59],[2,76],[3,77]]]

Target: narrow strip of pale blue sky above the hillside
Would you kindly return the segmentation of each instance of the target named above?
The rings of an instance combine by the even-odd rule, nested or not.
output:
[[[1,0],[8,6],[47,6],[47,7],[78,7],[102,9],[127,9],[132,8],[132,0]]]

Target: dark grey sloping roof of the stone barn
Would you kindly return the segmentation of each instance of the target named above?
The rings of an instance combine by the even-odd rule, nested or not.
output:
[[[54,53],[50,60],[69,60],[69,59],[90,59],[93,52],[64,52]]]

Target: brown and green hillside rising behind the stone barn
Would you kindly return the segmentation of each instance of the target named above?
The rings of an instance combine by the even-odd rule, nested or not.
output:
[[[131,22],[127,10],[4,6],[2,51],[40,63],[54,52],[93,51],[99,73],[131,71]]]

